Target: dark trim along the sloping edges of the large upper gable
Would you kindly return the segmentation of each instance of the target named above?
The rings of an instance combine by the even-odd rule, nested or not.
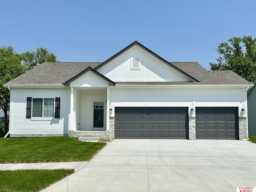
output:
[[[170,62],[166,61],[164,58],[160,57],[159,55],[157,55],[156,53],[152,52],[151,50],[149,50],[148,48],[146,48],[144,45],[140,44],[137,41],[132,42],[130,45],[128,45],[126,48],[122,49],[120,52],[116,53],[115,55],[113,55],[112,57],[110,57],[108,60],[104,61],[102,64],[96,66],[94,69],[95,70],[99,70],[100,68],[102,68],[103,66],[105,66],[106,64],[110,63],[112,60],[114,60],[115,58],[117,58],[118,56],[120,56],[121,54],[123,54],[124,52],[128,51],[129,49],[131,49],[134,46],[138,46],[141,49],[143,49],[144,51],[148,52],[148,54],[152,55],[153,57],[155,57],[157,60],[160,60],[162,63],[166,64],[167,66],[169,66],[170,68],[172,68],[173,70],[175,70],[176,72],[182,74],[183,76],[186,76],[186,78],[188,78],[190,81],[192,82],[199,82],[196,78],[190,76],[189,74],[186,74],[186,72],[182,71],[181,69],[177,68],[176,66],[174,66],[173,64],[171,64]]]

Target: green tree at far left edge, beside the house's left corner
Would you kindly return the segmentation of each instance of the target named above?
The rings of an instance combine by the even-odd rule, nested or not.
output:
[[[11,46],[0,47],[0,107],[4,111],[4,133],[8,132],[9,120],[7,111],[10,106],[10,91],[3,84],[25,72],[21,56]]]

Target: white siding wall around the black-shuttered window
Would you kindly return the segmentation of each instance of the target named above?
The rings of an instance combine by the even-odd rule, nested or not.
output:
[[[26,100],[60,97],[60,118],[52,120],[26,119]],[[10,134],[68,134],[70,88],[12,88],[12,121]]]

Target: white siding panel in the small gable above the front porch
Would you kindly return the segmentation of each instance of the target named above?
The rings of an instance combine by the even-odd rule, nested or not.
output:
[[[93,72],[87,72],[70,83],[70,87],[106,87],[108,82]]]

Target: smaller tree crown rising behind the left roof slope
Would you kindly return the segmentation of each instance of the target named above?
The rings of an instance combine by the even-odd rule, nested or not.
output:
[[[57,62],[56,56],[52,52],[48,52],[47,48],[37,48],[35,51],[26,51],[21,54],[22,64],[26,70],[35,68],[44,62]]]

